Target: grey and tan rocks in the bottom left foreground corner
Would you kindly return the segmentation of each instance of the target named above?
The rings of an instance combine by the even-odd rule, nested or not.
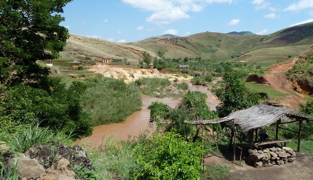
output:
[[[16,160],[17,173],[22,180],[75,180],[72,166],[92,170],[92,162],[82,147],[69,147],[59,142],[35,144],[24,154],[5,152],[4,166],[13,168]]]

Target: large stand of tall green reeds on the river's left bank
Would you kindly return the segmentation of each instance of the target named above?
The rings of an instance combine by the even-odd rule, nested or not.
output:
[[[90,113],[93,126],[122,122],[141,109],[141,92],[134,84],[102,75],[88,78],[86,82],[88,88],[82,96],[82,106]]]

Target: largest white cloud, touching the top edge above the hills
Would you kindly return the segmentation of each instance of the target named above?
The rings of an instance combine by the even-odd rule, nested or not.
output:
[[[141,11],[152,11],[147,22],[168,24],[181,19],[189,19],[188,12],[199,12],[208,3],[232,3],[235,0],[122,0]]]

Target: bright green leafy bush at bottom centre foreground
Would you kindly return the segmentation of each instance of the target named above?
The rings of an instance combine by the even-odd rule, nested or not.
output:
[[[188,143],[175,130],[164,136],[153,135],[151,144],[135,148],[138,165],[134,179],[140,180],[199,180],[201,143]]]

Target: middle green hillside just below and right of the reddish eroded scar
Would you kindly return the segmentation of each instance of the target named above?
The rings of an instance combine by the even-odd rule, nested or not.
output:
[[[133,45],[164,55],[166,58],[201,56],[204,59],[230,60],[253,47],[265,36],[237,36],[205,32],[179,37],[178,42],[169,44],[158,40],[136,42]]]

